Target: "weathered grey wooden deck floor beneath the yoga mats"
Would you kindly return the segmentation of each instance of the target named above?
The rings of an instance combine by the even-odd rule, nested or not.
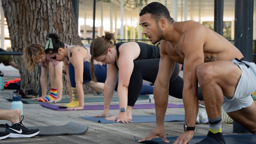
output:
[[[11,97],[14,90],[0,90],[0,109],[11,109],[11,102],[4,97]],[[66,96],[67,97],[67,96]],[[85,95],[93,97],[93,95]],[[146,104],[148,100],[139,100],[136,104]],[[169,103],[183,104],[182,100],[169,96]],[[103,102],[90,102],[85,105],[103,104]],[[118,102],[112,102],[118,104]],[[109,110],[109,115],[117,114],[119,110]],[[94,116],[101,114],[102,110],[82,110],[82,111],[55,111],[43,108],[40,104],[23,104],[23,115],[25,126],[50,126],[65,125],[68,122],[76,122],[89,126],[89,130],[82,135],[62,135],[62,136],[34,136],[32,138],[6,138],[0,140],[3,144],[137,144],[134,136],[143,138],[155,128],[155,123],[112,123],[102,124],[88,121],[80,116]],[[168,108],[166,114],[184,114],[184,108]],[[155,109],[134,109],[133,115],[155,115]],[[1,124],[10,122],[0,120]],[[179,136],[183,132],[184,122],[166,122],[166,137]],[[222,124],[223,135],[233,133],[232,124]],[[194,135],[206,135],[208,124],[197,124]]]

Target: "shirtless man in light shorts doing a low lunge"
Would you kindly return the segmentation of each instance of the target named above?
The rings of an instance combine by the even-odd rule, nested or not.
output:
[[[164,142],[164,115],[169,80],[175,61],[183,64],[184,132],[174,144],[187,144],[194,135],[198,112],[198,83],[209,119],[209,132],[200,144],[225,143],[221,130],[221,106],[237,123],[256,134],[256,65],[227,39],[195,21],[175,22],[168,9],[152,2],[140,12],[142,33],[153,44],[161,41],[159,72],[154,85],[156,128],[140,140],[160,137]],[[224,95],[224,97],[223,97]],[[222,104],[223,103],[223,104]],[[186,129],[185,129],[186,128]]]

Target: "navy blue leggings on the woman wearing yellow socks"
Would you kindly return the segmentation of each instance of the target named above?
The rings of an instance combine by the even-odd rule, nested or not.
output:
[[[107,77],[107,65],[94,65],[94,74],[97,77],[97,82],[105,83],[106,77]],[[75,88],[75,69],[72,63],[70,62],[68,65],[68,72],[69,72],[69,78],[71,87]],[[83,84],[88,83],[92,81],[92,78],[90,76],[90,63],[89,62],[83,62]],[[117,83],[115,87],[115,91],[117,91],[117,85],[118,85],[118,77],[117,77]],[[150,85],[142,85],[140,95],[148,95],[153,94],[153,87]]]

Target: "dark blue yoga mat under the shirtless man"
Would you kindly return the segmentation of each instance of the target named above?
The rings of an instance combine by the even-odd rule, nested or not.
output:
[[[256,135],[253,134],[245,134],[245,135],[223,135],[226,144],[256,144]],[[134,137],[136,142],[138,142],[139,139]],[[206,136],[193,136],[193,138],[190,140],[190,144],[195,144],[200,142],[206,138]],[[145,140],[143,144],[172,144],[175,142],[177,137],[166,137],[166,139],[170,143],[165,143],[161,138],[153,138],[152,140]]]

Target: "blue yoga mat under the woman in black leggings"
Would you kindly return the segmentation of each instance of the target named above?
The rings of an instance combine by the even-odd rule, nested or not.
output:
[[[80,117],[94,122],[99,123],[116,123],[115,121],[108,121],[105,117]],[[156,115],[146,115],[146,116],[133,116],[133,122],[130,123],[150,123],[156,122]],[[164,122],[174,122],[174,121],[185,121],[185,115],[165,115]],[[121,123],[121,122],[120,122]]]

